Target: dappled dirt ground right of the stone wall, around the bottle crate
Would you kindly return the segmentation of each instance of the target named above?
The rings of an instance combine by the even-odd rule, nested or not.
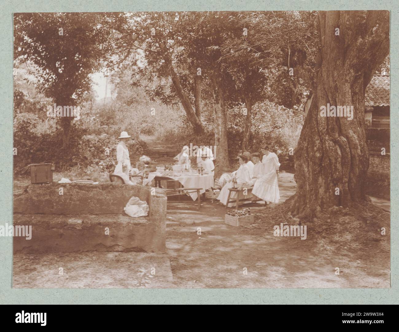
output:
[[[283,202],[295,192],[292,174],[282,173],[279,185]],[[340,233],[337,226],[333,235],[322,230],[323,236],[309,225],[306,240],[275,237],[273,226],[295,224],[292,217],[282,220],[281,204],[249,206],[256,224],[245,227],[226,225],[225,207],[209,194],[200,211],[184,203],[168,206],[166,245],[177,287],[389,287],[389,243],[379,243],[389,242],[389,235],[360,239],[358,229]]]

